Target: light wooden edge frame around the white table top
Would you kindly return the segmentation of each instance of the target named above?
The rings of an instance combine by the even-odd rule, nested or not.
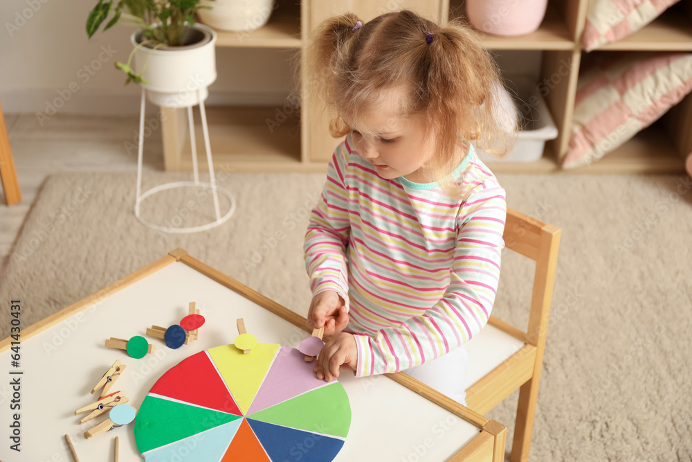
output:
[[[73,316],[73,314],[76,314],[85,308],[106,299],[113,293],[124,289],[136,281],[140,281],[140,279],[145,278],[145,276],[148,276],[149,274],[152,274],[159,269],[176,262],[185,263],[185,265],[188,265],[188,267],[191,267],[213,281],[228,287],[230,290],[244,296],[246,299],[253,301],[257,305],[262,306],[262,308],[265,308],[278,317],[289,321],[294,326],[298,326],[298,328],[301,328],[306,332],[312,331],[311,328],[309,328],[307,319],[304,317],[292,312],[279,303],[268,299],[266,296],[255,292],[251,288],[246,287],[238,281],[235,281],[235,279],[226,276],[226,274],[219,272],[217,269],[202,263],[196,258],[190,256],[187,251],[179,248],[170,251],[167,256],[155,261],[154,263],[147,265],[146,267],[143,267],[142,269],[139,269],[128,276],[125,276],[124,278],[120,279],[120,281],[116,281],[108,287],[105,287],[104,289],[87,296],[77,303],[74,303],[73,305],[70,305],[63,310],[46,317],[46,319],[43,319],[42,321],[39,321],[22,330],[21,341],[24,341],[30,337],[33,337],[39,332],[55,326],[57,323],[60,323],[61,321]],[[10,348],[11,341],[11,337],[0,341],[0,353]],[[504,425],[495,420],[489,420],[481,414],[477,414],[477,412],[471,411],[471,409],[459,405],[459,403],[447,398],[438,391],[431,389],[426,384],[415,380],[413,377],[410,377],[410,375],[401,372],[386,375],[388,375],[388,377],[395,382],[398,382],[404,387],[415,391],[424,398],[434,402],[439,407],[446,409],[446,411],[449,411],[455,416],[466,420],[466,422],[475,425],[475,427],[479,429],[480,433],[478,436],[473,438],[470,443],[466,444],[461,450],[451,456],[448,461],[504,461],[504,445],[507,438],[507,428],[504,427]]]

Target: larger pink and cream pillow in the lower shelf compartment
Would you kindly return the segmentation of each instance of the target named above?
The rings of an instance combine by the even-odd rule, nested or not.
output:
[[[563,168],[590,165],[692,91],[692,53],[599,52],[577,81]]]

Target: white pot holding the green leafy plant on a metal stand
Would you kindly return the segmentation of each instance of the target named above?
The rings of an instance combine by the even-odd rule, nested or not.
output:
[[[147,48],[139,46],[134,55],[135,72],[144,69],[142,76],[147,81],[140,84],[147,89],[147,100],[161,107],[188,107],[206,100],[207,87],[217,78],[216,48],[217,34],[203,24],[194,24],[203,35],[200,42],[187,46],[165,46]],[[131,35],[134,46],[140,43],[142,31]]]

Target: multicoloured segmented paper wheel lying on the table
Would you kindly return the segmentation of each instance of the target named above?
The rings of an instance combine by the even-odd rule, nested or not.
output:
[[[351,406],[298,350],[218,346],[183,359],[154,384],[134,425],[147,462],[328,462],[343,447]]]

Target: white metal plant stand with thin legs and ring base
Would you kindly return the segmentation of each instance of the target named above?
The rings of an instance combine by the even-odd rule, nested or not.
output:
[[[194,121],[192,120],[192,106],[187,106],[188,107],[188,125],[190,126],[190,143],[192,143],[192,171],[194,175],[194,181],[175,181],[173,183],[166,183],[166,184],[161,184],[159,186],[155,186],[154,188],[151,188],[149,190],[146,190],[144,193],[142,193],[142,161],[143,161],[143,145],[144,145],[144,117],[145,117],[145,107],[146,107],[146,91],[145,87],[142,87],[142,103],[140,105],[140,118],[139,118],[139,146],[138,146],[138,159],[137,159],[137,194],[136,194],[136,199],[135,199],[135,204],[134,204],[134,215],[137,218],[137,220],[140,221],[140,223],[144,224],[145,226],[149,226],[149,228],[155,229],[156,231],[161,231],[163,233],[196,233],[197,231],[206,231],[208,229],[212,229],[215,226],[219,226],[219,224],[226,222],[228,218],[230,218],[230,215],[233,215],[233,212],[235,212],[235,198],[231,193],[229,193],[226,189],[220,188],[216,184],[216,177],[214,175],[214,164],[212,163],[212,152],[210,148],[210,143],[209,143],[209,129],[207,126],[207,115],[204,110],[204,98],[202,95],[202,89],[197,89],[197,96],[198,96],[198,101],[199,101],[199,112],[202,117],[202,130],[204,133],[204,147],[206,148],[207,152],[207,164],[209,166],[209,177],[210,177],[210,182],[207,183],[206,181],[199,181],[199,172],[197,171],[197,145],[195,143],[194,139]],[[140,210],[139,206],[141,202],[146,199],[147,197],[154,195],[160,191],[167,190],[167,189],[174,189],[174,188],[189,188],[189,187],[196,187],[196,188],[205,188],[205,189],[210,189],[212,191],[212,195],[214,197],[214,210],[216,213],[216,220],[213,222],[210,222],[208,224],[203,224],[201,226],[190,226],[187,228],[176,228],[172,226],[160,226],[158,224],[154,224],[152,222],[149,222],[146,220],[144,217],[140,215]],[[228,197],[228,200],[230,202],[230,206],[228,208],[228,211],[226,212],[225,215],[221,216],[221,210],[219,208],[219,193],[225,195]]]

